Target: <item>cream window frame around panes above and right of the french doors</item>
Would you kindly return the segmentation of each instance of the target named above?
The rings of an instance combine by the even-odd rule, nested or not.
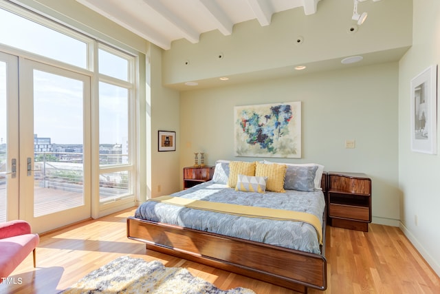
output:
[[[139,56],[140,52],[127,50],[127,48],[120,48],[120,46],[114,45],[109,42],[104,42],[102,40],[98,41],[98,38],[92,36],[91,34],[85,34],[85,32],[80,32],[80,30],[67,26],[61,21],[56,19],[50,19],[47,16],[40,14],[39,12],[34,12],[28,8],[23,8],[17,4],[0,1],[0,9],[6,10],[10,13],[17,14],[19,17],[29,19],[40,25],[45,25],[45,27],[55,30],[56,32],[61,32],[67,36],[70,36],[78,41],[83,41],[87,44],[87,68],[78,67],[69,63],[64,63],[63,61],[58,61],[51,59],[47,56],[41,56],[39,54],[34,54],[26,50],[21,50],[20,48],[14,48],[9,45],[0,43],[0,52],[5,52],[8,54],[13,54],[16,56],[23,57],[25,59],[30,59],[33,61],[38,61],[40,63],[45,63],[47,65],[52,65],[55,67],[60,67],[65,70],[71,70],[72,72],[78,72],[80,74],[85,74],[91,77],[91,134],[99,134],[99,82],[109,83],[111,85],[116,85],[118,87],[124,87],[128,89],[128,99],[129,99],[129,163],[124,165],[111,165],[107,167],[100,167],[99,165],[99,136],[92,136],[91,138],[91,216],[92,218],[98,218],[104,216],[113,211],[118,211],[124,209],[124,205],[135,204],[135,200],[138,198],[137,193],[140,191],[139,183],[136,182],[137,170],[139,167],[138,160],[136,156],[139,154],[139,142],[138,137],[138,116],[136,111],[137,105],[137,93],[139,91]],[[107,76],[105,74],[100,74],[98,71],[98,49],[105,50],[111,54],[122,57],[129,61],[128,63],[128,81],[123,81],[118,78]],[[113,202],[100,203],[99,196],[99,176],[100,174],[106,174],[110,172],[117,171],[129,171],[129,194],[115,198]],[[118,207],[121,207],[118,209]]]

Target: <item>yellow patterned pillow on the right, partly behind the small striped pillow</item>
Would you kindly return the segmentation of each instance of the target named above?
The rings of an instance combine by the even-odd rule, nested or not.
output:
[[[284,193],[284,178],[286,176],[286,165],[265,165],[256,162],[255,176],[267,177],[266,190],[278,193]]]

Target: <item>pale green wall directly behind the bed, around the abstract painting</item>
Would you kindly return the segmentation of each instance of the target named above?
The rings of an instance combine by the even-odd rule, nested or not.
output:
[[[398,226],[397,96],[397,63],[181,92],[180,166],[192,165],[196,151],[205,151],[210,165],[256,159],[234,157],[233,107],[302,101],[303,158],[279,161],[366,173],[373,222]],[[345,149],[346,139],[355,149]]]

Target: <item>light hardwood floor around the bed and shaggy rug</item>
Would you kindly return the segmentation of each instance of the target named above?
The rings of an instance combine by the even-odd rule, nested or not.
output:
[[[58,293],[122,255],[186,267],[193,275],[222,289],[243,286],[258,294],[294,293],[210,266],[146,252],[144,244],[126,238],[126,217],[132,216],[134,210],[42,235],[36,251],[36,269],[31,254],[10,275],[9,284],[0,284],[0,293]],[[440,278],[399,228],[371,224],[369,232],[364,233],[327,227],[326,250],[328,288],[309,289],[311,294],[440,293]]]

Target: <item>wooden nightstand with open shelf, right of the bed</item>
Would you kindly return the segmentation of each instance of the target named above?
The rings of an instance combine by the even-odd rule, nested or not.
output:
[[[327,191],[332,227],[369,231],[371,179],[365,174],[329,172]]]

